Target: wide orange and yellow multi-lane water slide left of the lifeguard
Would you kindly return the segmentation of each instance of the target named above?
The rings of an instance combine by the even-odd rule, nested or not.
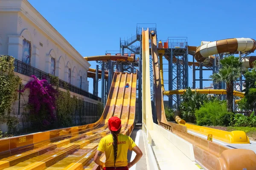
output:
[[[93,124],[0,139],[0,170],[95,170],[93,156],[109,134],[108,119],[118,116],[123,134],[134,128],[136,83],[137,74],[115,72],[105,109]]]

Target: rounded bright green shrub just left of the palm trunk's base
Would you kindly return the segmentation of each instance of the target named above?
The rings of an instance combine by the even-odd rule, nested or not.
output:
[[[227,104],[213,100],[204,103],[195,111],[197,125],[228,126],[233,113],[227,111]]]

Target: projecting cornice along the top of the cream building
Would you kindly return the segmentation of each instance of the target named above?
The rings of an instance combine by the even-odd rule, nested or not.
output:
[[[3,6],[0,11],[21,12],[31,20],[38,28],[55,41],[64,51],[84,68],[89,69],[90,64],[87,62],[76,49],[27,1],[27,0],[1,0]],[[0,5],[2,4],[0,2]],[[11,6],[13,4],[13,6]],[[29,11],[30,10],[30,11]],[[41,24],[42,23],[42,24]],[[44,26],[45,24],[45,26]],[[48,28],[47,28],[48,27]],[[49,29],[50,28],[50,29]],[[63,43],[61,43],[64,42]]]

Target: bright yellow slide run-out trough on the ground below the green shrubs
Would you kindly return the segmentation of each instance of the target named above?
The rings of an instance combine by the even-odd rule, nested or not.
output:
[[[212,134],[213,139],[218,139],[227,143],[235,143],[235,144],[249,144],[250,140],[244,131],[235,130],[232,132],[227,132],[224,130],[213,129],[209,127],[197,126],[187,124],[184,125],[189,130],[195,131],[197,133],[201,133],[205,136],[208,134]]]

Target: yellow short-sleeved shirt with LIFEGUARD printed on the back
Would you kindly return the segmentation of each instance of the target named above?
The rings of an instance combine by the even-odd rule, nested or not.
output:
[[[134,143],[130,136],[126,136],[120,133],[117,135],[116,167],[125,167],[128,165],[128,149],[132,150],[135,146],[137,145]],[[114,167],[114,147],[112,134],[105,136],[100,140],[98,150],[102,153],[105,152],[105,167]]]

